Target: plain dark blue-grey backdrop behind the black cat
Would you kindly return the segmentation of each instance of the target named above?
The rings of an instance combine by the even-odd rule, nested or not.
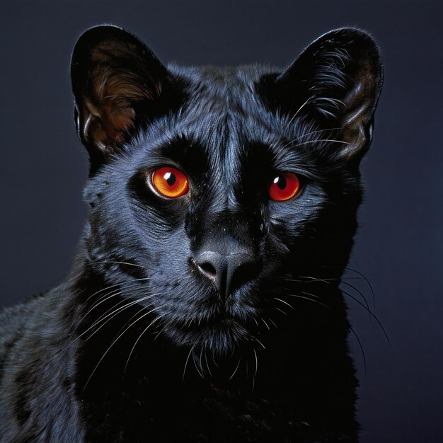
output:
[[[392,344],[350,300],[367,360],[365,376],[351,336],[362,442],[442,442],[442,12],[437,0],[2,1],[0,304],[50,289],[74,256],[88,168],[69,58],[82,30],[122,25],[163,62],[285,66],[318,35],[357,25],[379,42],[386,79],[350,267],[372,282]]]

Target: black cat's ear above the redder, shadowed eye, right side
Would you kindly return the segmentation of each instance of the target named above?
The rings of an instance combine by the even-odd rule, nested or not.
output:
[[[359,161],[369,148],[374,110],[383,83],[379,48],[367,33],[340,28],[322,35],[277,76],[277,106],[306,115],[335,132],[344,143],[334,154]],[[294,120],[294,119],[293,119]]]

